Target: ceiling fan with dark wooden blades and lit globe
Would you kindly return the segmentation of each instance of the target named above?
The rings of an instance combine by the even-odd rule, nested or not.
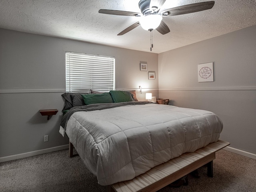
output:
[[[169,8],[159,12],[165,1],[166,0],[140,0],[139,8],[141,13],[106,9],[100,9],[99,13],[121,16],[135,16],[139,18],[140,21],[132,24],[118,35],[126,34],[139,25],[141,25],[143,29],[149,30],[150,32],[156,29],[158,32],[164,35],[170,32],[170,29],[165,24],[165,22],[162,21],[162,17],[194,13],[211,9],[214,6],[214,1],[207,1]]]

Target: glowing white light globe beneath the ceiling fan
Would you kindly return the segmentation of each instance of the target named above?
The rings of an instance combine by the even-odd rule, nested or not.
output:
[[[144,30],[154,30],[158,28],[162,21],[162,16],[158,14],[150,14],[140,17],[140,25]]]

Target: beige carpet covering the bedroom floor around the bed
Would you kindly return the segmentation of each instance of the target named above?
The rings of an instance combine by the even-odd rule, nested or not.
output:
[[[188,186],[166,186],[159,192],[256,192],[256,160],[220,150],[214,160],[214,177],[207,168],[200,178],[188,175]],[[0,192],[105,192],[78,155],[68,150],[0,163]]]

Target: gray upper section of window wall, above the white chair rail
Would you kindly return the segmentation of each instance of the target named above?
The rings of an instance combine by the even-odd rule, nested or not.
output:
[[[158,54],[0,29],[0,90],[65,89],[65,53],[114,56],[116,89],[158,88],[140,61],[158,73]]]

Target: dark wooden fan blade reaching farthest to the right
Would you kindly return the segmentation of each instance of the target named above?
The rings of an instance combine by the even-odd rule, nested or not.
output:
[[[200,3],[193,3],[188,5],[183,5],[179,7],[174,7],[170,9],[166,9],[161,12],[163,16],[175,16],[175,15],[182,15],[188,13],[194,13],[198,11],[204,11],[211,9],[214,6],[214,1],[207,1],[207,2],[200,2]]]

